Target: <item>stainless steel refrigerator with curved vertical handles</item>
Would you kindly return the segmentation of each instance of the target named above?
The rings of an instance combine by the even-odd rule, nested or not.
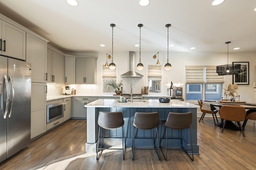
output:
[[[30,145],[31,64],[0,56],[0,162]]]

